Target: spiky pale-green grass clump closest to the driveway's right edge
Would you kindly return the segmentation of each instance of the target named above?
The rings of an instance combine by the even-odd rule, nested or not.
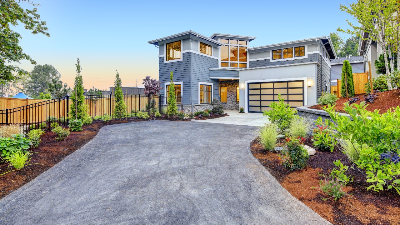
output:
[[[279,135],[278,125],[269,123],[258,129],[257,141],[264,146],[266,151],[273,151],[278,144]]]

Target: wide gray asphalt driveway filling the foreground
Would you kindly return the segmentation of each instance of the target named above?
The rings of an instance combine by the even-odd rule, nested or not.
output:
[[[255,127],[146,121],[103,127],[0,201],[0,224],[330,224],[251,155]]]

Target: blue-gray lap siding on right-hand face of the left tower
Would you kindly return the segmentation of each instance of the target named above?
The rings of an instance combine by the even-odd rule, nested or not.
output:
[[[218,80],[210,79],[210,68],[218,67],[218,59],[191,53],[192,56],[192,100],[193,104],[198,104],[198,82],[213,83],[213,97],[219,96]],[[190,93],[190,92],[188,92]],[[189,96],[190,97],[190,96]]]

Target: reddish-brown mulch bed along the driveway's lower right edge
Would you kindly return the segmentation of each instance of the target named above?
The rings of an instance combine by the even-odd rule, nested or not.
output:
[[[312,146],[308,139],[305,145]],[[264,148],[257,141],[250,143],[253,155],[260,161],[275,179],[294,197],[333,224],[400,224],[400,195],[396,191],[367,191],[369,185],[365,177],[357,170],[348,174],[354,176],[344,190],[353,195],[342,197],[338,201],[321,198],[328,197],[319,189],[320,174],[328,174],[335,167],[332,163],[341,159],[345,165],[351,165],[346,155],[340,150],[317,151],[308,160],[308,167],[290,172],[279,164],[277,153],[264,153]]]

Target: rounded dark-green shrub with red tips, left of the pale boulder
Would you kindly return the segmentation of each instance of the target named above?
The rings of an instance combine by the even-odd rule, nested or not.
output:
[[[285,145],[278,155],[280,164],[290,171],[302,169],[307,165],[308,152],[301,138],[286,138]]]

